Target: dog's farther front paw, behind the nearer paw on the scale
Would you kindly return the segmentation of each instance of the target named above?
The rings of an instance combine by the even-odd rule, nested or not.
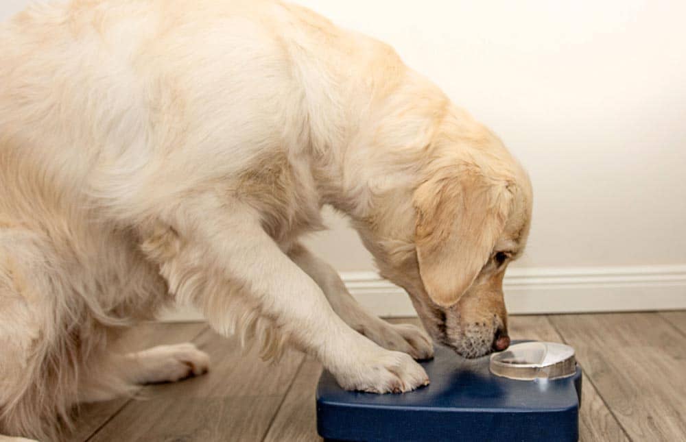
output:
[[[383,348],[407,353],[418,360],[434,357],[431,338],[424,330],[412,324],[392,324],[379,319],[356,328]]]

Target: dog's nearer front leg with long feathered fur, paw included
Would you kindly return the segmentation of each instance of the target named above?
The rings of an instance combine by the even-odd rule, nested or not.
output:
[[[193,195],[167,214],[167,228],[150,230],[143,249],[171,292],[199,306],[218,332],[256,335],[267,358],[292,343],[346,389],[407,391],[428,382],[411,356],[379,347],[338,317],[248,206]]]

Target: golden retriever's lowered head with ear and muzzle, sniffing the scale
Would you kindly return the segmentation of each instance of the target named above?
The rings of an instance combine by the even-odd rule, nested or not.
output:
[[[405,193],[411,219],[396,210],[387,221],[394,227],[383,236],[403,239],[381,240],[372,253],[434,339],[475,358],[510,343],[502,282],[528,237],[531,184],[480,125],[453,125],[434,143],[421,180]]]

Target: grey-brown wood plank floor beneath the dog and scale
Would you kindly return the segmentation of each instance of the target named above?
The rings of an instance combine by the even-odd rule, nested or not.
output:
[[[510,334],[576,349],[582,441],[686,440],[686,311],[518,316]],[[211,355],[211,371],[84,406],[73,441],[321,440],[316,360],[292,352],[269,365],[202,323],[146,324],[133,336],[140,348],[192,341]]]

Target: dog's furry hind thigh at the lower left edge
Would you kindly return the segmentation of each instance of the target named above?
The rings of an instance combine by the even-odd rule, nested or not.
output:
[[[0,225],[3,434],[56,440],[71,419],[83,343],[73,320],[79,306],[66,302],[68,287],[53,252],[47,236]]]

